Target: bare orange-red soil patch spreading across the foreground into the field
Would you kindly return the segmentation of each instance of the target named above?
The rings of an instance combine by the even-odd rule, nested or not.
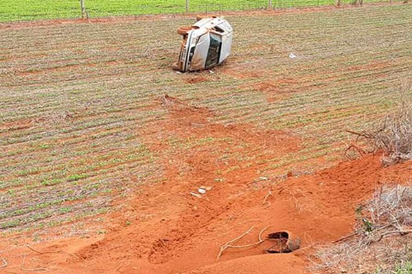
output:
[[[209,110],[167,95],[161,101],[166,119],[143,136],[161,154],[163,182],[142,186],[129,212],[112,214],[104,236],[63,238],[31,244],[31,249],[16,244],[16,238],[1,240],[0,256],[8,264],[1,273],[308,273],[314,247],[350,233],[354,210],[378,186],[411,179],[411,162],[383,168],[380,155],[341,162],[314,175],[289,174],[284,182],[257,179],[258,160],[298,151],[299,138],[250,125],[220,125],[211,122]],[[170,138],[187,138],[189,148],[173,147]],[[232,141],[227,145],[220,142],[223,138]],[[211,149],[196,147],[196,141],[206,139],[214,141]],[[228,169],[239,153],[255,162]],[[216,181],[220,173],[223,182]],[[211,190],[202,197],[190,194],[203,185]],[[135,217],[126,218],[126,213]],[[225,242],[251,227],[234,244],[256,242],[266,226],[263,236],[288,230],[301,239],[301,249],[266,254],[264,242],[227,249],[217,260]]]

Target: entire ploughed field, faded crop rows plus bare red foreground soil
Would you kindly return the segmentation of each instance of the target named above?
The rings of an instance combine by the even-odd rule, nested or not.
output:
[[[0,24],[5,271],[304,273],[376,186],[410,179],[344,152],[411,95],[412,5],[225,18],[229,60],[187,74],[170,66],[189,16]],[[216,262],[266,226],[301,250]]]

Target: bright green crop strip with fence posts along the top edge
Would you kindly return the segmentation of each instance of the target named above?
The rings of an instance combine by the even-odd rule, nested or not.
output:
[[[0,22],[141,14],[276,10],[411,0],[3,0]]]

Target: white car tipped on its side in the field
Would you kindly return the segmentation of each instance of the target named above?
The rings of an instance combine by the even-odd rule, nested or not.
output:
[[[233,28],[216,16],[201,18],[192,27],[179,27],[183,36],[176,71],[199,71],[222,63],[230,54]]]

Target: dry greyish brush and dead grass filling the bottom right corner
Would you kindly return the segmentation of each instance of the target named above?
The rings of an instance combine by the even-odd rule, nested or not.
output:
[[[355,231],[320,249],[312,271],[393,273],[412,262],[412,186],[380,188],[356,214]]]

